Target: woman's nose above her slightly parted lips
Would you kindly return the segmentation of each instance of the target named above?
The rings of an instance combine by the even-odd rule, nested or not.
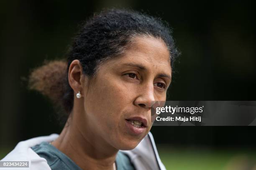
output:
[[[154,85],[146,85],[141,87],[134,104],[143,108],[150,109],[155,103]]]

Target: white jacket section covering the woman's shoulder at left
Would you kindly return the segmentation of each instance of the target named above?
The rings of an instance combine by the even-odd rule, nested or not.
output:
[[[41,136],[21,141],[1,161],[28,161],[28,170],[51,170],[49,165],[47,164],[46,159],[41,158],[31,149],[31,147],[38,145],[44,141],[50,142],[56,139],[58,136],[59,135],[57,134],[51,134],[49,136]],[[7,168],[7,170],[9,169],[10,168]]]

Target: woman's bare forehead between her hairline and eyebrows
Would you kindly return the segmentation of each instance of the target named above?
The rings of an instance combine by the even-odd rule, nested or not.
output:
[[[163,40],[153,37],[136,37],[130,47],[121,57],[117,57],[112,62],[108,62],[109,66],[118,63],[118,65],[126,62],[138,63],[147,69],[159,70],[171,73],[170,54]]]

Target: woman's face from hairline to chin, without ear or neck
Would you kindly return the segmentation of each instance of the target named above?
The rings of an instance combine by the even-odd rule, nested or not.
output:
[[[162,40],[138,37],[120,57],[100,65],[83,88],[86,123],[119,150],[131,150],[151,129],[152,101],[166,100],[172,69]]]

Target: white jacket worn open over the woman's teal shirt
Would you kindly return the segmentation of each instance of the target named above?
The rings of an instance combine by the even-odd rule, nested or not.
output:
[[[58,134],[51,134],[49,136],[41,136],[21,141],[2,161],[29,161],[30,170],[36,170],[38,167],[44,167],[44,170],[51,170],[47,161],[36,154],[31,147],[44,141],[51,142],[58,137]],[[136,148],[126,151],[121,150],[121,152],[129,156],[137,170],[166,170],[161,163],[153,135],[150,132],[141,140]]]

